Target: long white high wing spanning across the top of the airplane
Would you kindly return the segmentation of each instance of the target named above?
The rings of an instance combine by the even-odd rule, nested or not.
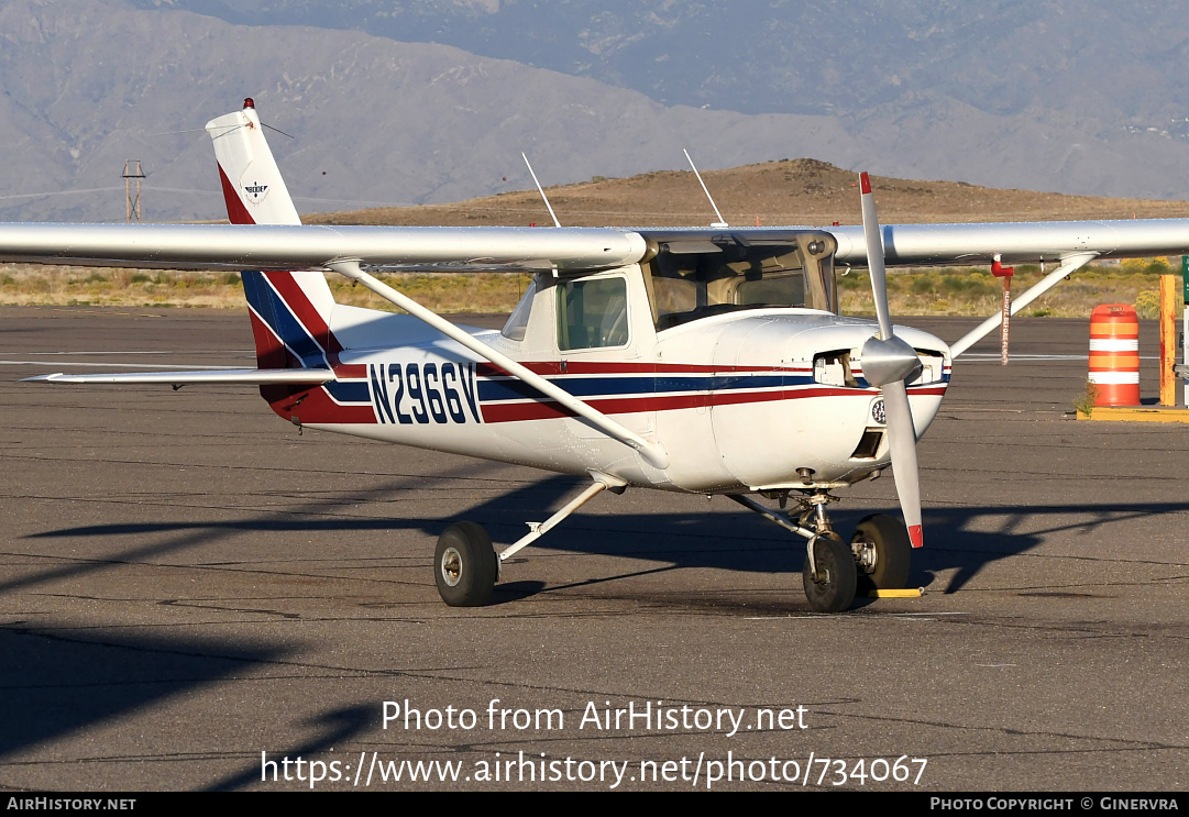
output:
[[[763,241],[789,227],[687,228],[691,238]],[[797,228],[804,230],[804,227]],[[862,226],[825,227],[841,264],[867,265]],[[888,266],[1005,264],[1072,254],[1189,254],[1189,219],[885,225]],[[0,224],[0,260],[180,270],[328,269],[583,272],[641,260],[648,244],[611,227]]]

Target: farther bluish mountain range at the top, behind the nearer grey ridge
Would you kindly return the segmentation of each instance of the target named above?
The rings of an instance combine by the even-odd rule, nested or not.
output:
[[[1189,136],[1189,5],[1109,0],[138,0],[454,45],[666,105],[862,115],[938,95]],[[1179,69],[1179,70],[1178,70]],[[1177,122],[1177,125],[1174,125]],[[1171,127],[1171,130],[1170,130]]]

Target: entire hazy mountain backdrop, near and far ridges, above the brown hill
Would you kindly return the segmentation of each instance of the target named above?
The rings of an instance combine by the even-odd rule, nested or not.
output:
[[[270,142],[306,212],[524,189],[531,180],[521,150],[546,184],[680,169],[682,146],[705,169],[812,157],[910,178],[1141,197],[1181,197],[1189,175],[1189,144],[1145,125],[1149,112],[1176,107],[1160,100],[1165,86],[1152,84],[1147,56],[1061,63],[1067,33],[1048,20],[1068,2],[1038,11],[992,2],[979,7],[981,24],[963,4],[942,4],[949,17],[911,2],[744,0],[730,14],[679,0],[600,6],[8,0],[0,6],[0,219],[122,220],[130,158],[147,172],[147,219],[220,218],[201,127],[244,96],[291,134]],[[919,19],[893,25],[908,14],[900,6]],[[1113,43],[1106,54],[1139,52],[1131,32],[1166,17],[1159,54],[1181,59],[1176,4],[1132,10],[1126,25],[1122,11],[1103,14],[1078,25],[1095,44]],[[565,73],[356,30],[369,20],[395,20],[404,34],[470,37],[476,49],[540,65],[561,55],[585,62]],[[854,20],[861,25],[848,31]],[[276,24],[294,21],[335,25]],[[990,48],[1036,26],[1031,62],[1014,45]],[[699,30],[706,33],[696,37]],[[960,70],[951,40],[986,42]],[[900,70],[905,43],[917,44],[923,67],[889,74]],[[1006,68],[989,74],[999,59]],[[1061,82],[1042,70],[1045,61],[1061,63]],[[1023,68],[1033,63],[1042,67]],[[1112,73],[1107,84],[1089,81]],[[1028,84],[1032,75],[1044,81]],[[1069,105],[1045,107],[1063,83]],[[716,101],[702,108],[678,99]],[[1086,112],[1094,105],[1103,115]]]

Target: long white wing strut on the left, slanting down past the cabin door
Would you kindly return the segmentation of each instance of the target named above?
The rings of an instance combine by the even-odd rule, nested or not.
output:
[[[375,276],[364,272],[361,269],[359,269],[358,260],[346,260],[346,259],[335,260],[328,263],[327,266],[334,270],[335,272],[339,272],[340,275],[351,278],[352,281],[358,281],[364,287],[379,295],[382,298],[395,303],[396,306],[408,312],[410,315],[420,318],[422,321],[434,327],[451,340],[455,340],[463,346],[466,346],[468,350],[471,350],[483,359],[490,360],[491,363],[496,364],[497,366],[507,371],[509,375],[518,377],[521,381],[529,384],[530,386],[543,394],[546,397],[558,401],[558,403],[561,404],[564,408],[583,417],[584,420],[590,422],[592,426],[598,428],[600,432],[603,432],[611,439],[618,440],[629,448],[635,448],[636,451],[640,452],[640,455],[643,457],[648,461],[648,464],[652,465],[653,467],[661,470],[668,467],[669,464],[668,452],[665,450],[665,446],[662,446],[660,442],[653,440],[646,440],[635,432],[628,431],[611,417],[606,416],[605,414],[603,414],[597,409],[591,408],[590,406],[578,400],[565,389],[554,385],[553,383],[545,379],[540,375],[529,371],[526,366],[522,366],[521,364],[516,363],[507,354],[496,351],[495,348],[483,342],[482,340],[470,334],[468,332],[458,328],[457,326],[447,321],[438,313],[421,306],[420,303],[410,298],[408,295],[398,293],[397,290],[392,289],[384,282],[377,279]]]

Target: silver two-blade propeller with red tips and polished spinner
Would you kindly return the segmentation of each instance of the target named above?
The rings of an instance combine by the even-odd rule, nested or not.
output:
[[[908,528],[913,547],[924,545],[920,532],[920,476],[917,467],[917,429],[912,423],[908,406],[907,382],[920,373],[920,358],[904,339],[892,332],[888,310],[887,274],[883,270],[883,239],[880,222],[875,216],[875,196],[872,180],[860,176],[863,203],[863,237],[867,239],[867,269],[872,275],[872,294],[875,296],[875,316],[880,333],[863,344],[863,377],[883,392],[883,409],[887,419],[888,442],[892,450],[892,473],[900,511]]]

